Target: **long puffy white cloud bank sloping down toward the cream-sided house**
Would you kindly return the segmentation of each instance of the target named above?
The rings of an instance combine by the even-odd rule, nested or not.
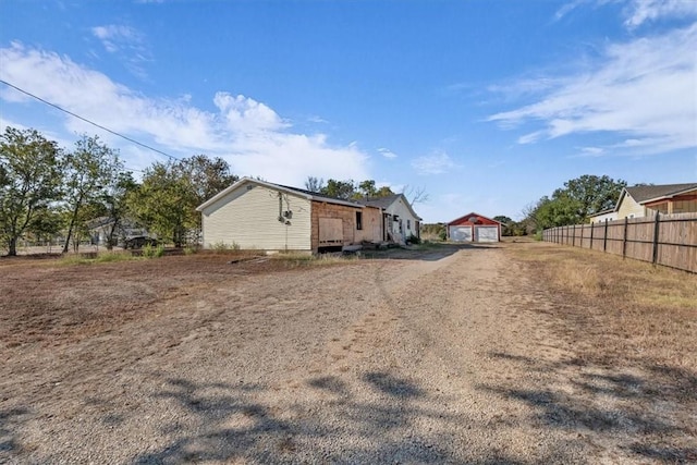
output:
[[[136,140],[158,145],[172,155],[222,157],[236,174],[301,186],[308,175],[369,178],[368,156],[357,144],[334,147],[325,134],[292,133],[290,123],[273,109],[242,95],[217,93],[211,101],[217,111],[193,107],[186,95],[151,99],[68,57],[17,42],[0,49],[0,62],[2,79],[21,84],[45,100]],[[0,91],[0,98],[8,102],[28,99],[8,89]],[[69,115],[64,126],[70,132],[101,136],[95,126]],[[143,162],[142,151],[133,150],[131,144],[109,135],[107,138],[123,145],[121,152],[132,157],[126,160],[132,167],[149,164]]]

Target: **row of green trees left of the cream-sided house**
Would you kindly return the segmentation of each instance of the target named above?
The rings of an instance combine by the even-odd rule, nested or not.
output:
[[[196,155],[156,161],[136,182],[98,136],[83,135],[64,150],[36,130],[8,126],[0,135],[0,240],[13,256],[22,237],[61,235],[65,253],[101,218],[107,248],[130,221],[182,246],[188,231],[200,230],[196,207],[236,180],[221,158]]]

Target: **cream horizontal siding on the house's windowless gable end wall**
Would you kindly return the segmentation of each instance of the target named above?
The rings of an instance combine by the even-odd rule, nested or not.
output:
[[[281,199],[281,212],[292,212],[284,219],[290,224],[279,221],[279,191],[252,183],[204,208],[204,247],[309,250],[310,200],[285,192]]]

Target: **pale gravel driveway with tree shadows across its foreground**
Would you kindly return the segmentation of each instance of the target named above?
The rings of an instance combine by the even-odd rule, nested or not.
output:
[[[621,462],[554,420],[571,353],[504,250],[424,258],[231,274],[5,348],[0,462]]]

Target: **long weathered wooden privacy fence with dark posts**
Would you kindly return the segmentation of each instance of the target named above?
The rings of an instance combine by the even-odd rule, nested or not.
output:
[[[542,232],[542,240],[697,273],[697,213],[552,228]]]

